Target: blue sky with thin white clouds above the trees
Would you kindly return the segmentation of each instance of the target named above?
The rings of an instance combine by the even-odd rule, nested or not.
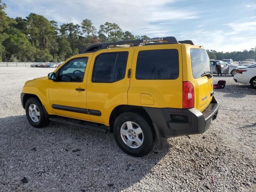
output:
[[[2,0],[6,13],[34,12],[59,24],[83,19],[96,28],[115,22],[134,35],[175,36],[206,49],[242,51],[256,47],[256,0]]]

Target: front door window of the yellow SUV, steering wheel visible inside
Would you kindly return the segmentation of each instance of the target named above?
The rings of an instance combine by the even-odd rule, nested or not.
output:
[[[58,70],[58,81],[82,82],[88,58],[70,60]]]

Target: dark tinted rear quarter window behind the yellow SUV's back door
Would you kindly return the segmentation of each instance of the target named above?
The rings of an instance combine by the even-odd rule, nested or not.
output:
[[[176,79],[178,76],[178,50],[146,50],[138,53],[136,79]]]

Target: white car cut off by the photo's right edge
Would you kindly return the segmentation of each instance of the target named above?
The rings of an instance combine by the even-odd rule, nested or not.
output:
[[[256,64],[238,66],[234,80],[238,83],[251,84],[252,88],[256,89]]]

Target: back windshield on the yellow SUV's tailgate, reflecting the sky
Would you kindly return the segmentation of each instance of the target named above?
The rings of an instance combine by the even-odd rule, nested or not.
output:
[[[210,67],[210,59],[206,50],[191,48],[190,57],[192,64],[192,73],[194,78],[200,78],[202,74],[212,71]]]

